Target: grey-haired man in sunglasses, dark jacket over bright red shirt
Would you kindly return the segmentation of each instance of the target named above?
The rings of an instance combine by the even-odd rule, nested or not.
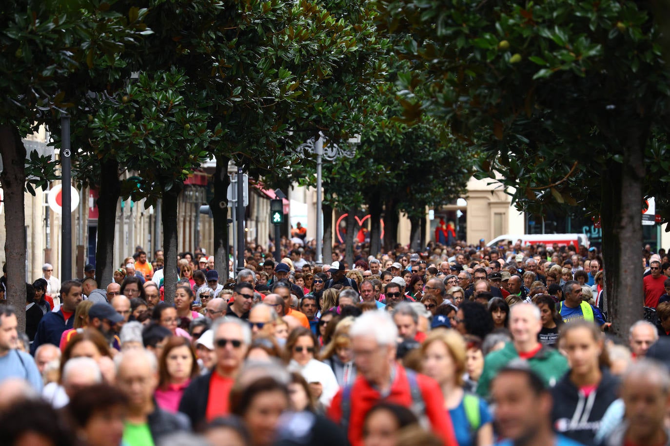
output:
[[[248,290],[245,288],[242,292],[247,294]],[[214,370],[192,380],[179,405],[179,411],[188,415],[194,427],[228,415],[228,395],[251,344],[251,328],[239,318],[217,320],[212,332]]]

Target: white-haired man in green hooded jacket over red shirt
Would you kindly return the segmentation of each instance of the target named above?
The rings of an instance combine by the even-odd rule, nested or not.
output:
[[[484,358],[484,370],[480,376],[477,393],[488,397],[492,378],[501,368],[516,358],[528,361],[528,364],[549,387],[555,386],[567,372],[567,360],[557,350],[543,346],[537,340],[542,330],[540,310],[533,304],[521,302],[510,308],[509,330],[512,342],[505,344],[501,350],[490,352]]]

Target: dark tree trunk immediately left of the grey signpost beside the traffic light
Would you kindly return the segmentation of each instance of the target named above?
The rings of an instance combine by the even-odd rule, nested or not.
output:
[[[214,269],[219,278],[228,278],[228,161],[224,156],[216,156],[214,172],[214,197],[210,210],[214,217]],[[222,281],[224,282],[224,281]]]

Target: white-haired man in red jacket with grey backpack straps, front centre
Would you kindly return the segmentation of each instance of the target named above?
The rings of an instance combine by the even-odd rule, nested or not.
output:
[[[349,336],[358,376],[353,384],[340,388],[328,417],[347,432],[351,445],[362,445],[365,414],[380,401],[417,411],[417,417],[427,417],[444,444],[455,445],[454,427],[438,383],[395,360],[398,330],[391,316],[383,310],[364,312]]]

